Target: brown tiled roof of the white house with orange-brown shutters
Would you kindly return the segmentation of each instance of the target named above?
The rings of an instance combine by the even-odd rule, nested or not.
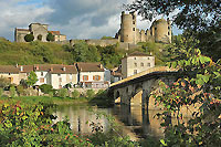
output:
[[[81,72],[104,72],[101,63],[77,62],[76,65]]]

